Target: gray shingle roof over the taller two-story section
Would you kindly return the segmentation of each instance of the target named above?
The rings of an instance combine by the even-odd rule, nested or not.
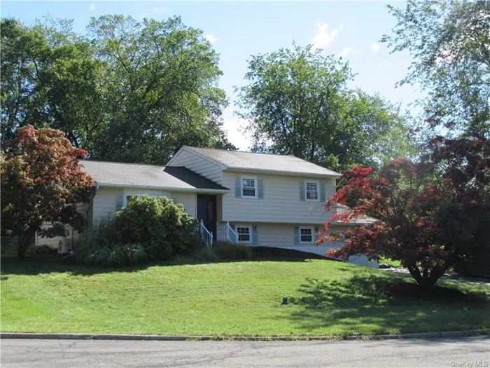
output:
[[[211,158],[211,160],[217,161],[229,169],[266,170],[295,175],[340,177],[338,172],[322,168],[295,156],[254,154],[252,152],[225,151],[223,149],[197,148],[192,146],[185,147],[207,158]]]

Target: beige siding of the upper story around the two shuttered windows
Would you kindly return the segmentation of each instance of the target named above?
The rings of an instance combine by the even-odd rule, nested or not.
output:
[[[264,184],[264,198],[235,197],[235,177],[259,177]],[[231,189],[223,196],[223,221],[277,222],[289,224],[325,224],[330,214],[323,203],[300,200],[300,181],[325,183],[325,198],[335,193],[335,179],[292,177],[286,175],[223,172],[223,186]]]

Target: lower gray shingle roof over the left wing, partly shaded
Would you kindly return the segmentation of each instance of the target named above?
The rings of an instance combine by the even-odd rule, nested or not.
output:
[[[99,185],[139,186],[185,191],[218,190],[227,188],[211,182],[186,168],[80,160],[83,171]]]

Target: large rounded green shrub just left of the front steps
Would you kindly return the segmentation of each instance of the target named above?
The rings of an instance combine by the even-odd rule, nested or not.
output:
[[[151,259],[172,259],[202,243],[196,220],[163,196],[134,196],[116,212],[116,229],[123,243],[143,244]]]

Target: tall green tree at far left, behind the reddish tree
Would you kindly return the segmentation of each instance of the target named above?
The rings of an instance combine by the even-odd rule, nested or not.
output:
[[[66,132],[87,145],[102,127],[102,65],[68,20],[27,27],[1,20],[1,143],[24,125]]]

